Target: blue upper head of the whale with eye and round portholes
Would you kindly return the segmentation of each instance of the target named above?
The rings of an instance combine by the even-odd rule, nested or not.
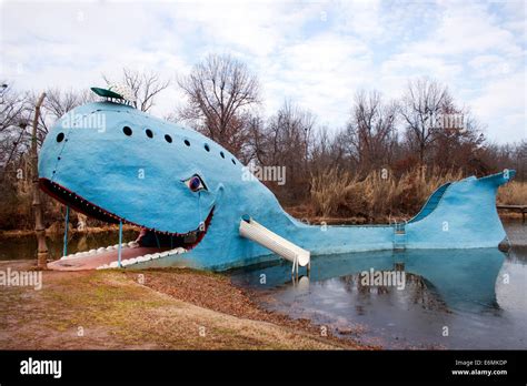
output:
[[[63,204],[173,235],[203,236],[241,174],[241,163],[206,136],[111,102],[59,119],[39,156],[41,189]]]

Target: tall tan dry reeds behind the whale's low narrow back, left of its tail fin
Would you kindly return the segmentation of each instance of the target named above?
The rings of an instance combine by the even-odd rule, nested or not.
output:
[[[387,171],[359,181],[348,172],[328,171],[311,180],[311,207],[324,217],[366,217],[368,221],[416,214],[440,185],[461,179],[460,172],[416,169],[400,179]]]

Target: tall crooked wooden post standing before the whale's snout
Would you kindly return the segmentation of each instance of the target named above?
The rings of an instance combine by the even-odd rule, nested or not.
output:
[[[42,92],[34,106],[33,128],[31,133],[31,177],[33,189],[32,206],[34,213],[34,234],[38,242],[37,265],[41,270],[48,268],[48,246],[46,245],[46,227],[42,223],[42,205],[40,203],[37,126],[39,123],[40,106],[42,105],[44,98],[46,93]]]

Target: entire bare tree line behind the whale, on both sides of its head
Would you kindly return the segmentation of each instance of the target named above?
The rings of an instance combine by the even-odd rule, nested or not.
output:
[[[266,184],[287,205],[308,202],[315,179],[339,179],[341,173],[361,181],[379,172],[392,177],[416,169],[484,175],[508,167],[517,170],[518,181],[527,181],[527,141],[490,143],[484,123],[469,108],[455,101],[447,85],[427,78],[409,80],[399,100],[388,100],[377,90],[358,90],[342,128],[319,125],[312,112],[290,100],[266,118],[257,74],[230,55],[210,54],[176,82],[129,69],[123,69],[120,82],[131,89],[141,111],[149,111],[165,90],[179,88],[185,103],[167,119],[201,132],[245,163],[286,166],[285,185]],[[58,118],[96,99],[89,90],[52,89],[47,95],[39,146]],[[3,228],[30,227],[28,161],[36,99],[36,91],[18,90],[8,80],[0,89]],[[59,214],[58,206],[47,207],[49,219]]]

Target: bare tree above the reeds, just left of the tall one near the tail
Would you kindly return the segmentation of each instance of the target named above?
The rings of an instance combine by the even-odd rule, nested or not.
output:
[[[379,92],[359,91],[344,135],[359,171],[369,172],[390,162],[397,142],[396,104],[385,103]]]

